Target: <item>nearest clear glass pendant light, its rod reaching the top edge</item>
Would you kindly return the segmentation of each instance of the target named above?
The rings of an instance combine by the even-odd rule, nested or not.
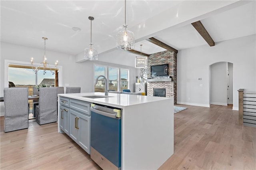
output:
[[[126,25],[126,0],[124,0],[124,29],[120,30],[116,35],[116,45],[118,49],[130,50],[134,49],[135,38],[133,32],[127,30]]]

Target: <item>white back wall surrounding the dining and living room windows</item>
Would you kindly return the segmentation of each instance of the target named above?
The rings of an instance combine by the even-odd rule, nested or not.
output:
[[[23,61],[30,63],[31,57],[34,58],[34,63],[40,63],[43,59],[44,49],[36,49],[31,47],[25,47],[21,45],[15,45],[11,43],[1,42],[1,55],[0,55],[0,96],[4,96],[4,60],[14,60],[14,61]],[[99,55],[100,57],[111,56],[111,54],[105,53]],[[133,91],[135,77],[138,75],[138,70],[130,66],[125,66],[126,63],[131,63],[131,61],[127,61],[127,59],[133,60],[133,58],[126,58],[122,56],[118,56],[122,59],[121,63],[124,65],[118,65],[113,63],[106,63],[101,61],[84,61],[82,63],[75,62],[75,56],[65,53],[59,53],[55,51],[48,51],[46,49],[46,57],[48,63],[55,63],[58,59],[58,64],[62,66],[62,82],[59,82],[60,86],[78,86],[81,87],[81,92],[92,92],[94,91],[94,77],[93,77],[93,65],[94,63],[100,63],[104,65],[110,65],[115,67],[123,67],[130,69],[130,88]],[[105,59],[107,60],[107,59]],[[111,58],[107,61],[111,62]],[[4,113],[4,102],[0,103],[0,114]]]

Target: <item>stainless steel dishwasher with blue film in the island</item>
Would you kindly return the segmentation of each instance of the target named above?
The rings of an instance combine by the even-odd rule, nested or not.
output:
[[[91,104],[91,158],[103,170],[121,168],[121,109]]]

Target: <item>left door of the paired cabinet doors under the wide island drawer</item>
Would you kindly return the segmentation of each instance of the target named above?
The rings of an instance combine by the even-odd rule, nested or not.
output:
[[[76,143],[78,142],[78,117],[77,112],[70,109],[69,111],[69,136],[72,138]]]

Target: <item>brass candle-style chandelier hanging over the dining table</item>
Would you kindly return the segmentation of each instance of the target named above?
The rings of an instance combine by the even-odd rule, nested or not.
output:
[[[55,70],[53,71],[50,67],[50,64],[47,63],[46,61],[46,54],[45,54],[45,41],[48,40],[48,38],[42,37],[42,39],[44,39],[44,58],[42,63],[40,63],[40,65],[34,65],[34,59],[33,57],[31,58],[31,65],[32,65],[32,69],[34,72],[38,72],[41,68],[41,64],[42,64],[42,68],[44,68],[44,74],[46,73],[46,69],[47,69],[47,65],[49,67],[49,70],[51,71],[52,75],[54,75],[55,71],[57,70],[57,66],[58,66],[58,60],[55,62]]]

